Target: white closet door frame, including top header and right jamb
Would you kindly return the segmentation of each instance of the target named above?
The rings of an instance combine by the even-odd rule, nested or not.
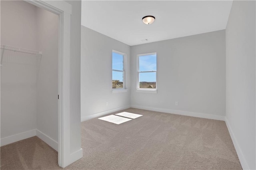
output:
[[[70,153],[70,18],[72,6],[64,1],[25,0],[59,16],[58,28],[58,164],[78,160]],[[57,97],[57,96],[56,96]]]

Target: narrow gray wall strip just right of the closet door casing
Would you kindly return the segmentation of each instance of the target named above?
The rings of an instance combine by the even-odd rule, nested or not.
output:
[[[81,149],[81,0],[66,1],[72,5],[70,26],[70,153]]]

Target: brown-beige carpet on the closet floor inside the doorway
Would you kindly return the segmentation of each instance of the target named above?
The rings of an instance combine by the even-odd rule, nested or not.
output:
[[[37,136],[1,147],[1,170],[55,170],[58,152]]]

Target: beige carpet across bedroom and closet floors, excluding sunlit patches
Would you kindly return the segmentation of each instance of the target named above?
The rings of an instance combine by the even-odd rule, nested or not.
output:
[[[242,169],[224,121],[124,111],[143,116],[120,125],[82,122],[84,157],[65,169]],[[1,170],[61,169],[57,161],[38,137],[1,147]]]

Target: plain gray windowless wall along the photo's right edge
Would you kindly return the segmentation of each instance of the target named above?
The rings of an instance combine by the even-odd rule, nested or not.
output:
[[[226,120],[244,169],[256,169],[255,45],[255,1],[233,1],[226,27]]]

